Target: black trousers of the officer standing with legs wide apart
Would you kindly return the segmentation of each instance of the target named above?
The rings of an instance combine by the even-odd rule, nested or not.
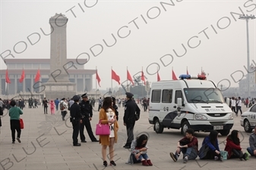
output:
[[[85,141],[84,126],[87,129],[87,133],[90,137],[90,141],[97,141],[97,139],[95,138],[95,136],[93,134],[93,130],[92,130],[92,127],[90,125],[89,118],[83,118],[83,123],[80,126],[80,139],[81,139],[81,141]]]

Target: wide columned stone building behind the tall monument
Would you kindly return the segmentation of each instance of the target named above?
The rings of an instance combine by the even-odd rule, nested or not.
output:
[[[0,70],[1,96],[14,94],[43,94],[42,83],[48,82],[50,73],[50,59],[5,59],[8,76],[11,83],[5,82],[5,71]],[[71,66],[72,62],[74,66]],[[86,63],[87,59],[79,59],[79,63]],[[76,83],[77,94],[91,91],[93,88],[92,76],[96,70],[84,70],[84,65],[78,64],[76,59],[67,59],[68,79]],[[69,68],[70,67],[70,68]],[[22,70],[25,72],[24,82],[19,82]],[[37,70],[40,69],[40,83],[35,83]],[[54,73],[55,75],[58,73]]]

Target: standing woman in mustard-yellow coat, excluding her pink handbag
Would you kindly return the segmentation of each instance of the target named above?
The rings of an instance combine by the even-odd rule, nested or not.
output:
[[[100,109],[100,123],[107,124],[109,123],[110,134],[109,135],[100,135],[100,144],[102,144],[102,154],[103,154],[103,165],[106,167],[108,163],[106,162],[106,148],[109,146],[109,155],[110,155],[110,165],[116,165],[114,157],[114,143],[117,143],[117,131],[119,130],[119,124],[116,120],[115,109],[112,107],[112,98],[106,97],[103,102],[103,107]]]

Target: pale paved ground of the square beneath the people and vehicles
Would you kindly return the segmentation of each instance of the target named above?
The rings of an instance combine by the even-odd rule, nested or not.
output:
[[[246,110],[246,108],[243,108]],[[122,107],[119,109],[120,117],[123,116]],[[116,167],[106,167],[106,169],[256,169],[256,159],[250,158],[248,161],[239,159],[215,162],[207,160],[189,161],[187,164],[179,159],[173,162],[169,156],[170,151],[175,151],[177,141],[182,138],[180,131],[165,129],[163,134],[156,134],[153,126],[148,123],[148,113],[141,112],[141,119],[137,122],[134,134],[147,133],[150,136],[148,145],[148,155],[153,162],[153,167],[144,167],[141,164],[127,165],[125,162],[130,155],[128,150],[122,146],[125,144],[126,131],[119,121],[119,141],[115,144]],[[81,147],[72,145],[72,128],[67,117],[67,121],[62,121],[59,111],[55,116],[43,114],[43,108],[28,109],[24,108],[24,129],[21,132],[21,144],[11,144],[11,130],[9,116],[2,117],[2,128],[0,134],[0,169],[2,170],[21,170],[21,169],[52,169],[52,170],[80,170],[80,169],[103,169],[101,156],[101,146],[93,143],[88,138],[87,143]],[[233,129],[242,131],[242,148],[248,147],[248,134],[239,125],[240,116],[235,117]],[[98,112],[94,112],[91,122],[95,131],[98,122]],[[195,134],[198,137],[200,146],[207,133],[200,132]],[[220,135],[219,141],[225,141],[225,137]],[[224,149],[224,144],[220,144],[220,149]]]

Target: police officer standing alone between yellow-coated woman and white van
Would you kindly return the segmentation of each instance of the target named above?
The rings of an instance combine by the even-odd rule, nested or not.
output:
[[[131,100],[131,98],[134,96],[134,94],[131,94],[129,92],[126,94],[126,104],[125,104],[125,114],[124,114],[124,125],[126,126],[127,131],[127,141],[125,144],[126,149],[131,148],[131,141],[134,140],[134,125],[135,121],[140,118],[141,110],[139,107],[137,107],[137,104]],[[135,115],[136,114],[136,115]]]

